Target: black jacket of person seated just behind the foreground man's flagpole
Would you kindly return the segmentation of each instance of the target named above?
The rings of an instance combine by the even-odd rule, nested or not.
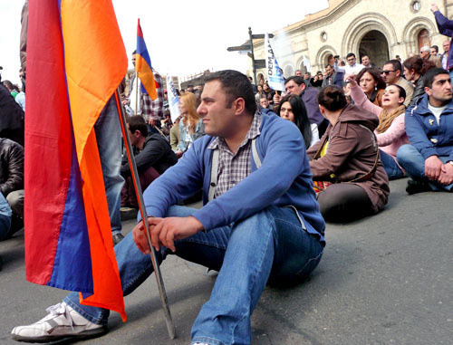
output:
[[[143,149],[134,156],[139,173],[152,167],[162,175],[165,170],[178,162],[178,158],[171,149],[169,141],[158,133],[150,134],[145,140]],[[130,167],[127,162],[127,156],[126,161],[123,161],[123,163],[120,170],[121,175],[128,176],[130,175]]]

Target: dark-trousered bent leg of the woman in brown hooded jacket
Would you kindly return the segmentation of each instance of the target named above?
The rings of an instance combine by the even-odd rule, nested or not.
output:
[[[321,214],[329,222],[351,222],[371,216],[371,200],[365,190],[352,183],[334,183],[318,194]]]

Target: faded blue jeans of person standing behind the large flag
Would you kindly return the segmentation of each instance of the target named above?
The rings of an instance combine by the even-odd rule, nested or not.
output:
[[[121,167],[121,128],[115,97],[112,96],[102,110],[94,125],[101,158],[105,194],[111,217],[111,234],[121,232],[121,188],[124,178],[120,176]]]

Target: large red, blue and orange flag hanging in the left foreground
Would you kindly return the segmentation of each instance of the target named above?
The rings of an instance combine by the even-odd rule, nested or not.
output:
[[[30,1],[27,280],[126,319],[94,124],[127,72],[111,0]]]

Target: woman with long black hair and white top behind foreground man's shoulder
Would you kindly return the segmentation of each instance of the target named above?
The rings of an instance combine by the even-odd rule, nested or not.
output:
[[[290,120],[301,131],[305,140],[305,149],[310,148],[319,141],[318,126],[316,123],[310,124],[304,101],[297,95],[290,94],[284,96],[278,104],[277,114],[284,120]]]

